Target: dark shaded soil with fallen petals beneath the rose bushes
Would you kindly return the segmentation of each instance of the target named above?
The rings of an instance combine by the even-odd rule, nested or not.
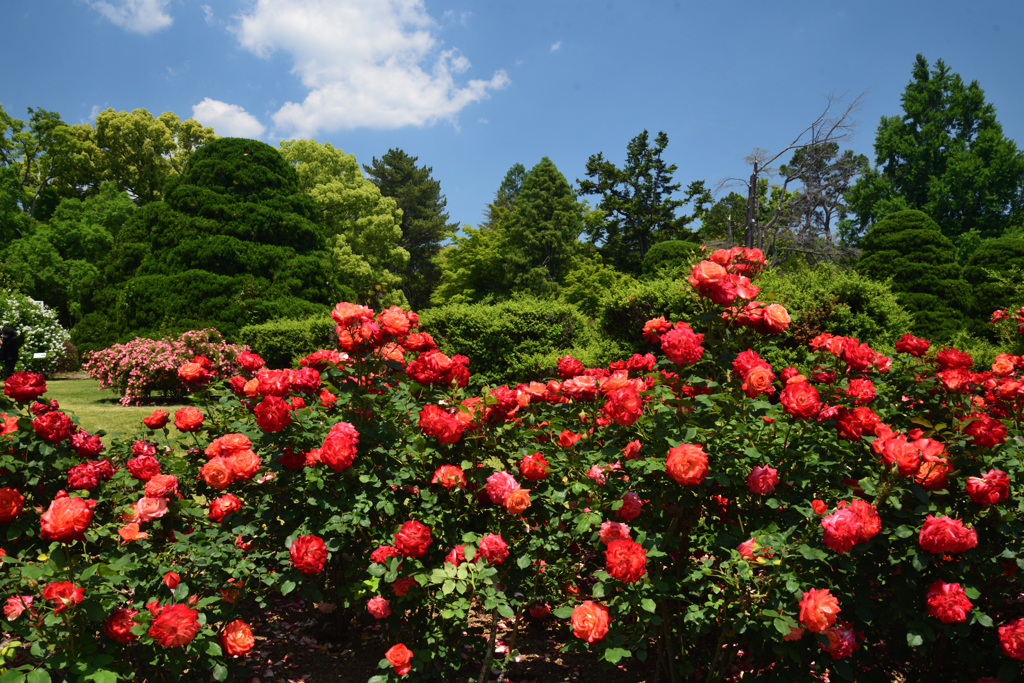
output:
[[[302,600],[276,599],[262,615],[247,617],[256,636],[256,647],[244,661],[251,683],[366,683],[384,673],[379,663],[391,643],[385,630],[369,614],[325,613],[329,607]],[[392,617],[394,618],[394,617]],[[489,624],[485,615],[481,625]],[[346,624],[346,620],[348,620]],[[471,620],[472,621],[472,620]],[[503,651],[512,626],[499,622],[498,644]],[[508,683],[645,683],[653,663],[624,659],[604,671],[592,654],[562,653],[559,645],[571,638],[564,622],[553,617],[526,618],[516,639],[518,656],[507,668]],[[496,654],[502,657],[504,654]],[[468,667],[475,682],[480,664]],[[496,667],[490,682],[499,680]],[[237,678],[236,680],[246,680]]]

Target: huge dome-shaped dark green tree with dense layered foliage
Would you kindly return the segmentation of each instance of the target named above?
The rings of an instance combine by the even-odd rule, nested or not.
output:
[[[119,231],[76,327],[80,347],[203,327],[231,339],[246,325],[311,315],[334,298],[331,254],[310,220],[315,204],[273,147],[211,142],[165,195]]]

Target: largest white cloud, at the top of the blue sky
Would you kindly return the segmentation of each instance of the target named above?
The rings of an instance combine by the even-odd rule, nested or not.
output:
[[[469,59],[438,48],[423,0],[256,0],[240,17],[239,41],[257,55],[290,55],[309,93],[286,102],[274,124],[294,135],[343,128],[399,128],[437,121],[509,83],[457,83]]]

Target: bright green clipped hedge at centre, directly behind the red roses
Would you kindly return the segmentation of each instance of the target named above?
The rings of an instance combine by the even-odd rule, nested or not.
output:
[[[575,306],[530,297],[428,308],[420,326],[445,353],[470,357],[473,377],[488,384],[539,379],[550,368],[542,358],[597,341]]]

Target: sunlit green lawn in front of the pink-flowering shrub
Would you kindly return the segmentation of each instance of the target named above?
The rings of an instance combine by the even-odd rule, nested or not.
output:
[[[43,398],[52,398],[60,403],[60,409],[74,414],[79,424],[90,434],[103,429],[106,435],[101,437],[104,444],[111,437],[120,434],[130,437],[142,428],[142,418],[156,409],[167,411],[172,419],[174,411],[185,403],[167,403],[157,405],[125,407],[118,402],[120,396],[110,389],[99,390],[99,383],[93,379],[49,379],[46,382],[46,393]],[[177,430],[171,428],[172,437]]]

